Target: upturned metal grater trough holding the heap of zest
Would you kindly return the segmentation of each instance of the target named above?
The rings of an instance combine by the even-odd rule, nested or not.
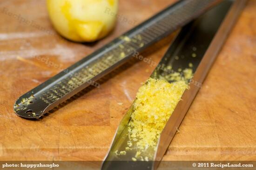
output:
[[[159,137],[156,150],[152,149],[143,152],[143,155],[152,155],[153,157],[148,162],[132,161],[132,157],[135,157],[137,150],[135,148],[133,150],[125,149],[130,140],[128,122],[134,110],[133,103],[121,120],[108,155],[102,164],[102,170],[152,170],[157,168],[244,4],[244,0],[236,0],[236,2],[224,0],[218,6],[182,28],[160,61],[160,67],[155,68],[151,78],[165,76],[167,72],[164,72],[164,69],[159,69],[162,66],[168,67],[168,65],[171,65],[173,70],[177,72],[178,68],[188,68],[189,63],[193,63],[194,77],[192,80],[194,82],[190,81],[190,89],[183,93],[182,100],[178,103],[165,125]],[[191,56],[194,52],[196,57]],[[184,57],[176,59],[176,56]],[[195,84],[195,82],[197,83]],[[126,150],[126,154],[117,155],[116,150]]]

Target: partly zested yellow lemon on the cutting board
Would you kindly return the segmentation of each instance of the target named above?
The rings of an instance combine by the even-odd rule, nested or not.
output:
[[[118,0],[47,0],[49,17],[63,37],[92,42],[115,26]]]

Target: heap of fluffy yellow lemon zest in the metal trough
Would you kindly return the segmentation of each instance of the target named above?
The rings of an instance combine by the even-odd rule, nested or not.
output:
[[[186,88],[188,84],[184,80],[168,83],[149,78],[136,95],[134,112],[128,123],[129,145],[141,151],[149,147],[155,149],[157,139]]]

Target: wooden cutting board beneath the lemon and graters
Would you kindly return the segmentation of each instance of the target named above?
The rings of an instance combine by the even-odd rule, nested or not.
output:
[[[15,100],[174,0],[120,0],[115,30],[95,43],[54,32],[45,0],[0,2],[0,160],[103,160],[153,67],[131,61],[37,121]],[[256,0],[249,0],[163,160],[256,160]],[[20,16],[20,17],[19,17]],[[158,62],[175,33],[142,55]],[[122,105],[118,104],[122,103]]]

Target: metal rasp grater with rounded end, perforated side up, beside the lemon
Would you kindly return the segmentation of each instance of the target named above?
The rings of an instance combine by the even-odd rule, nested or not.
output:
[[[23,118],[40,118],[148,46],[204,13],[220,0],[180,0],[119,38],[22,95],[14,111]]]

